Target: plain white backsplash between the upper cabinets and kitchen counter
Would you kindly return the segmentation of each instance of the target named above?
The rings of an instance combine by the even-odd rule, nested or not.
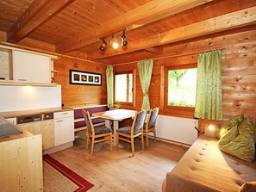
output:
[[[0,112],[61,107],[61,86],[0,86]]]

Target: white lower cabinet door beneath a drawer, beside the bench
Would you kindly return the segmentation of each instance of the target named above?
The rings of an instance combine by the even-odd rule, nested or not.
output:
[[[54,120],[55,146],[74,140],[74,117],[59,118]]]

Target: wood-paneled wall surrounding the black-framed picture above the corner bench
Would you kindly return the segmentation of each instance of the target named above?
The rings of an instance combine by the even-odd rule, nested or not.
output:
[[[75,64],[78,67],[75,67]],[[102,85],[77,85],[69,84],[69,70],[88,71],[102,74]],[[61,84],[62,103],[65,106],[82,106],[106,104],[106,66],[89,63],[78,59],[60,58],[54,61],[54,78]]]

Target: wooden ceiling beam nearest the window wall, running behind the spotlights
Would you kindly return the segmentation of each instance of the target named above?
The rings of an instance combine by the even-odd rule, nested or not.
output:
[[[226,31],[228,29],[240,28],[256,23],[256,7],[241,9],[226,15],[216,16],[202,22],[195,22],[181,28],[174,28],[165,33],[154,34],[146,39],[128,42],[128,46],[123,50],[111,48],[106,49],[104,53],[88,53],[92,60],[109,58],[111,56],[131,53],[141,49],[147,49],[153,46],[163,46],[169,43],[178,42],[180,40],[188,40],[207,34],[215,34],[217,32]]]

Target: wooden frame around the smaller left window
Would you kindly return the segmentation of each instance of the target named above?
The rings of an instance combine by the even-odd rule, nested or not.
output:
[[[116,75],[123,75],[123,74],[132,74],[133,75],[133,87],[132,87],[132,98],[133,98],[133,102],[116,102]],[[114,104],[117,104],[118,106],[122,106],[122,105],[128,105],[128,106],[134,106],[135,103],[135,94],[134,94],[134,87],[135,87],[135,83],[136,81],[134,80],[134,77],[136,77],[136,75],[134,75],[134,71],[120,71],[120,72],[114,72]]]

